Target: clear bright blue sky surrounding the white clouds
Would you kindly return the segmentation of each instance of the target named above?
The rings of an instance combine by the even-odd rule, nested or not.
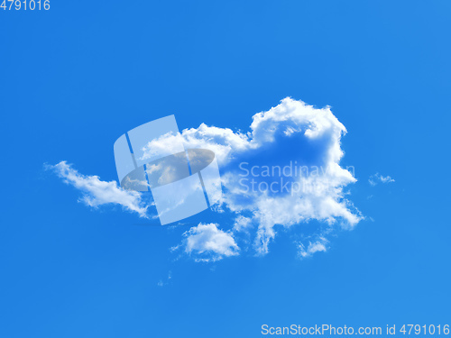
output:
[[[449,324],[451,5],[446,1],[52,2],[0,10],[1,337],[251,337],[262,324]],[[113,144],[175,114],[248,132],[284,97],[345,125],[346,198],[366,217],[328,250],[171,252],[212,211],[162,227],[89,208],[44,163],[117,179]],[[395,182],[373,187],[380,173]],[[371,197],[370,197],[371,196]],[[158,225],[158,226],[157,226]],[[246,248],[245,246],[243,248]],[[160,285],[159,285],[160,284]],[[161,284],[163,284],[161,286]]]

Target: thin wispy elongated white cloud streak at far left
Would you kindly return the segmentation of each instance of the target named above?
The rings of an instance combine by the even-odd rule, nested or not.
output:
[[[146,214],[148,206],[144,206],[141,194],[117,187],[115,181],[106,182],[100,180],[98,176],[81,175],[66,161],[61,161],[54,166],[46,165],[45,168],[52,169],[64,182],[82,191],[83,196],[78,201],[87,206],[98,207],[116,204],[123,206],[128,211],[137,213],[141,217],[148,217]]]

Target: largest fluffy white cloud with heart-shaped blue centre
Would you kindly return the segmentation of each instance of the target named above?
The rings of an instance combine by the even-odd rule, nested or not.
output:
[[[345,198],[353,169],[340,167],[345,126],[329,107],[287,97],[253,115],[249,132],[201,124],[179,136],[187,148],[215,151],[224,187],[222,206],[239,232],[256,224],[253,248],[269,251],[277,228],[318,220],[352,228],[362,216]],[[154,142],[165,144],[166,140]],[[163,146],[162,145],[162,146]]]

